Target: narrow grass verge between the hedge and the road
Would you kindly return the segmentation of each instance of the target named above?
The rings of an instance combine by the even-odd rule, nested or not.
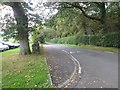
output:
[[[100,47],[100,46],[93,46],[93,45],[71,45],[71,44],[64,44],[65,46],[72,46],[75,48],[85,48],[90,50],[96,50],[96,51],[102,51],[102,52],[113,52],[118,53],[118,48],[112,48],[112,47]]]

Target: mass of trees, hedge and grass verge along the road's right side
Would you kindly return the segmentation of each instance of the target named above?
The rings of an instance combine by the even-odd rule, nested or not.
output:
[[[48,42],[118,52],[118,48],[120,48],[118,3],[84,3],[89,8],[86,8],[86,11],[78,3],[67,4],[68,7],[74,8],[61,8],[56,15],[48,20],[47,26],[56,31],[54,37]],[[107,8],[104,7],[105,5]],[[96,12],[97,9],[100,10],[99,15]],[[96,13],[90,16],[86,15],[92,10]],[[100,19],[103,21],[101,22]]]

